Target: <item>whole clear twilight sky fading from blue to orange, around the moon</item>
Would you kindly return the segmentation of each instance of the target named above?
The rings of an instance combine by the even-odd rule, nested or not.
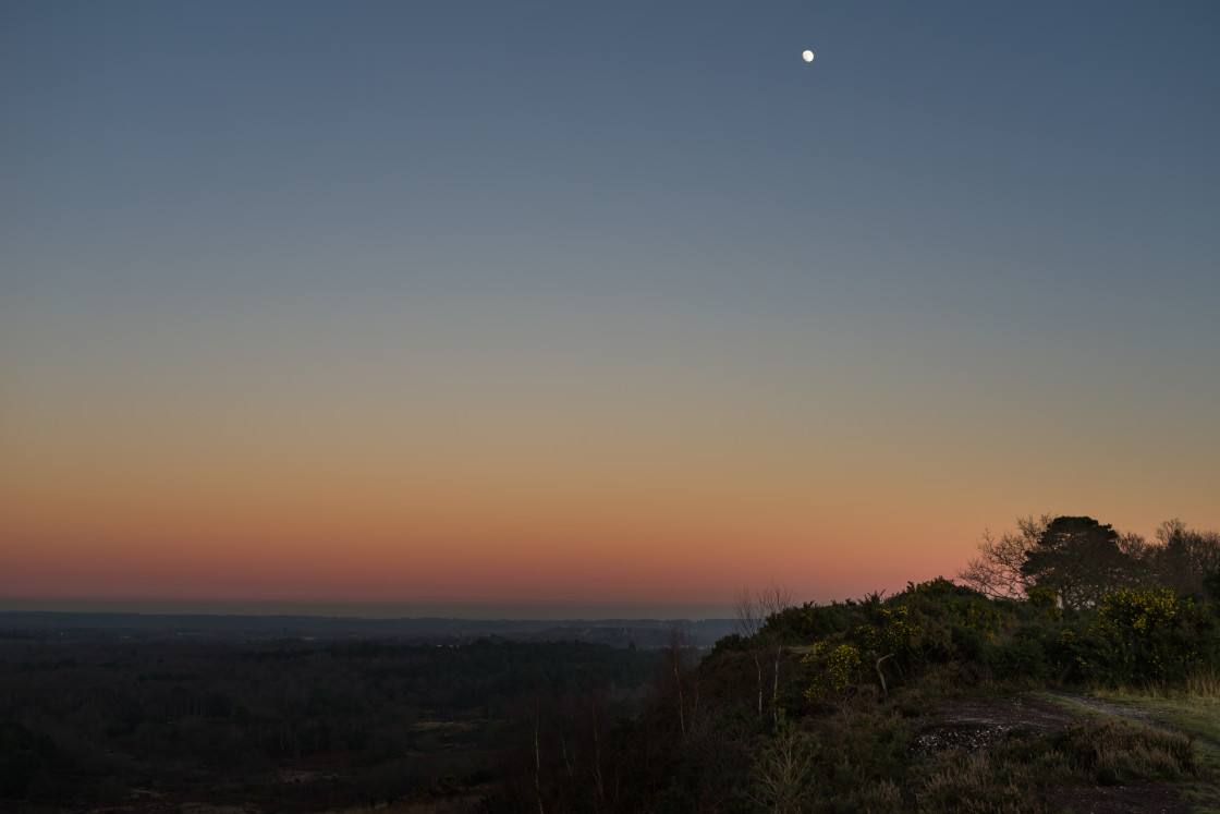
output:
[[[1220,528],[1218,31],[4,2],[0,600],[825,602],[1019,515]]]

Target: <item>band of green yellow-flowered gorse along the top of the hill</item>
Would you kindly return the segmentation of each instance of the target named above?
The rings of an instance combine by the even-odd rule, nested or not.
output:
[[[1000,680],[1111,686],[1180,686],[1198,669],[1220,669],[1216,604],[1169,588],[1125,588],[1065,616],[1053,591],[1032,588],[1027,596],[1025,602],[989,599],[936,578],[908,585],[886,599],[872,594],[826,608],[806,603],[769,624],[782,616],[789,630],[803,631],[797,641],[817,647],[804,663],[814,674],[806,698],[847,692],[836,690],[826,661],[839,646],[854,648],[860,681],[882,690],[917,680],[933,664],[950,663],[974,665]],[[809,636],[813,631],[817,633]],[[882,658],[886,675],[878,677],[872,665]]]

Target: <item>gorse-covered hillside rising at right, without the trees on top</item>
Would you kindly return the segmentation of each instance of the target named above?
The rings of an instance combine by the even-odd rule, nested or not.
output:
[[[1208,810],[1220,805],[1205,724],[1220,711],[1218,631],[1216,603],[1164,588],[1077,611],[938,578],[791,607],[700,663],[670,653],[654,702],[600,753],[571,747],[578,725],[540,718],[489,807]],[[1177,725],[1080,694],[1105,687],[1155,688],[1180,705]]]

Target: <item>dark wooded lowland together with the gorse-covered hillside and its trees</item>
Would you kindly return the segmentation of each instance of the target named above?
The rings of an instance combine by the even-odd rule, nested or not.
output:
[[[7,639],[0,797],[26,810],[1220,810],[1220,536],[1161,532],[1146,544],[1088,517],[1031,519],[985,537],[967,585],[830,605],[743,592],[738,632],[710,652],[676,630],[658,650]],[[1104,690],[1172,697],[1202,722],[1057,705]]]

